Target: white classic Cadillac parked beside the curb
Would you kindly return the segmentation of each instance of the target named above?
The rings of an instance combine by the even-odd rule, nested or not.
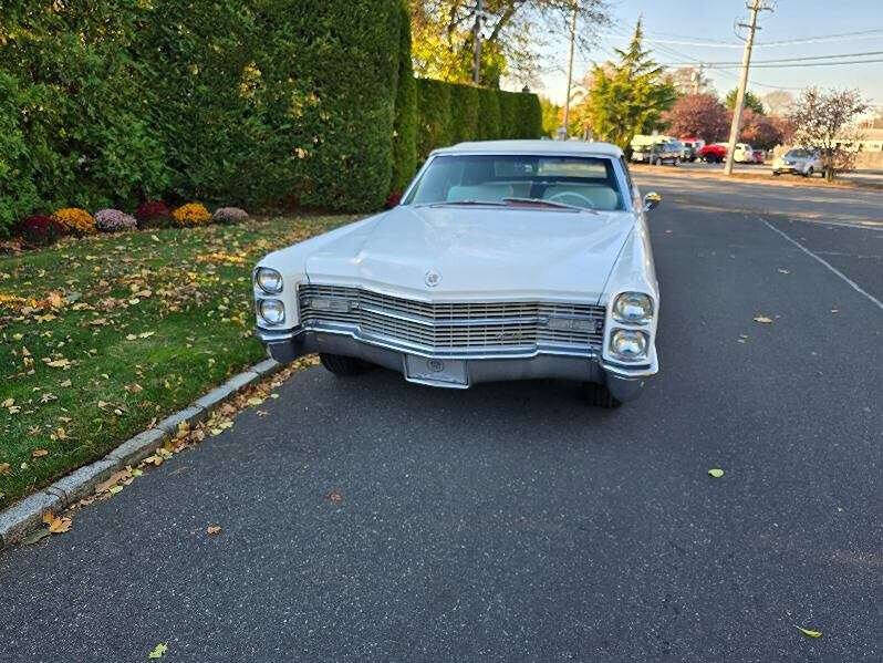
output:
[[[561,377],[613,407],[658,370],[659,292],[619,147],[500,141],[433,152],[397,207],[274,251],[254,269],[257,334],[465,389]]]

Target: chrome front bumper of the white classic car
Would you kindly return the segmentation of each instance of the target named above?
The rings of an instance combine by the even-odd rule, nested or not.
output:
[[[492,354],[426,354],[420,351],[396,346],[392,342],[356,338],[351,332],[294,329],[272,331],[258,329],[258,338],[270,356],[280,363],[289,363],[299,356],[314,352],[341,354],[364,360],[402,373],[409,382],[454,389],[466,389],[479,382],[507,382],[512,380],[562,379],[605,384],[617,401],[636,398],[645,381],[656,373],[655,366],[623,366],[604,364],[586,352],[585,355],[557,353],[553,350],[531,353],[499,352]],[[419,355],[440,361],[465,362],[465,384],[432,382],[408,376],[406,358]]]

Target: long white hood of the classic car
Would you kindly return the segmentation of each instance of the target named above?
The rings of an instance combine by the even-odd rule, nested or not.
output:
[[[634,222],[625,211],[401,206],[318,247],[304,271],[434,300],[596,301]]]

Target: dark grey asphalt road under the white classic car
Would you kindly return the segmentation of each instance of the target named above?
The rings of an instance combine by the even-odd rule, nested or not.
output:
[[[641,401],[301,372],[0,553],[0,659],[881,661],[883,231],[726,197],[653,216]]]

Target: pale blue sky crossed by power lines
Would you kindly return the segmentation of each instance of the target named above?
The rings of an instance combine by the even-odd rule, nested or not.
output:
[[[602,31],[596,46],[579,53],[574,80],[582,79],[594,61],[609,60],[612,49],[623,46],[634,30],[638,15],[653,58],[663,64],[740,61],[742,43],[734,33],[734,24],[746,22],[745,0],[610,0],[614,23]],[[881,60],[868,64],[800,68],[752,68],[748,89],[759,96],[779,89],[799,94],[802,87],[858,87],[872,104],[883,107],[883,0],[767,0],[773,11],[760,13],[757,45],[752,63],[761,60],[806,58],[828,54],[853,54],[877,51],[876,55],[844,60]],[[738,19],[738,21],[737,21]],[[873,34],[854,34],[860,31]],[[853,34],[844,34],[853,33]],[[813,43],[763,45],[820,38]],[[651,43],[654,40],[656,43]],[[665,42],[665,43],[663,43]],[[677,42],[677,43],[674,43]],[[553,39],[546,50],[546,73],[540,94],[562,103],[567,84],[568,38]],[[813,62],[813,61],[809,61]],[[819,61],[814,61],[819,62]],[[706,72],[721,96],[738,82],[739,70]]]

